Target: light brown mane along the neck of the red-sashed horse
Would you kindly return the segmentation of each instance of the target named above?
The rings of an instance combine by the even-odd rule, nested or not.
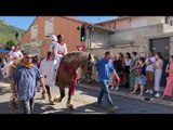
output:
[[[81,51],[74,51],[69,52],[66,55],[63,56],[62,63],[64,64],[69,64],[71,62],[83,62],[89,58],[89,53],[86,52],[81,52]]]

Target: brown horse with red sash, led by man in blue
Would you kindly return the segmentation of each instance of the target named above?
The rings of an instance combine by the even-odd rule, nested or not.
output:
[[[88,73],[89,62],[94,62],[94,56],[86,52],[71,52],[63,56],[59,63],[56,75],[56,86],[59,87],[61,96],[54,99],[55,102],[62,102],[65,96],[65,87],[69,87],[67,107],[74,109],[74,105],[70,104],[71,94],[75,91],[75,83],[77,79],[77,69],[81,67],[84,75]]]

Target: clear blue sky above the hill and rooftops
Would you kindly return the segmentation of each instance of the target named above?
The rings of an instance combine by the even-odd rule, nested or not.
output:
[[[97,23],[116,18],[116,16],[74,16],[75,18],[86,21],[90,23]],[[36,16],[0,16],[0,20],[4,20],[8,24],[15,27],[27,30]]]

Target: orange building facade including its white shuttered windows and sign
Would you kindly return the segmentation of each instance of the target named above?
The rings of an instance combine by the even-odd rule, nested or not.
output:
[[[83,24],[89,23],[68,16],[38,16],[22,38],[21,49],[44,57],[51,42],[48,36],[63,34],[68,52],[77,51],[77,46],[81,44],[80,30],[77,28]]]

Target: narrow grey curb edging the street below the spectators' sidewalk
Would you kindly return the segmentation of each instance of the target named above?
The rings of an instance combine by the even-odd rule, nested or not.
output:
[[[96,86],[91,87],[91,86],[78,83],[77,87],[91,89],[91,90],[94,90],[94,91],[99,91],[98,90],[99,88],[96,87]],[[135,94],[131,94],[131,93],[127,93],[127,92],[120,92],[120,91],[110,91],[110,93],[114,94],[114,95],[121,95],[121,96],[125,96],[125,98],[131,98],[131,99],[135,99],[135,100],[145,101],[145,102],[148,102],[148,103],[156,103],[156,104],[161,104],[161,105],[173,106],[173,102],[164,101],[164,100],[161,100],[161,99],[155,99],[155,98],[147,99],[147,96],[138,96],[138,95],[135,95]]]

